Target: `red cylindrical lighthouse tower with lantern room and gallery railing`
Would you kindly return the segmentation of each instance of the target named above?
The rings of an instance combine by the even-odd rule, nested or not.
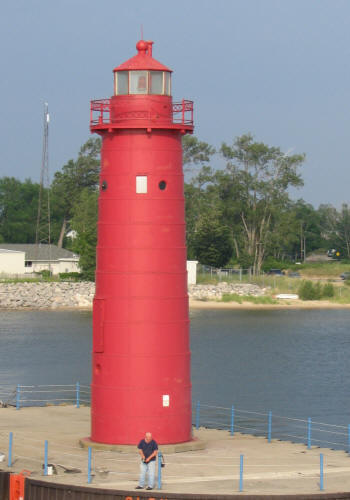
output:
[[[92,101],[102,137],[93,307],[93,441],[191,440],[182,173],[193,103],[173,103],[153,42],[114,69],[114,95]]]

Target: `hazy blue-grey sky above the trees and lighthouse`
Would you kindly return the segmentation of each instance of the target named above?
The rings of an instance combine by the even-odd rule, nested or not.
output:
[[[306,153],[310,203],[350,202],[349,0],[3,0],[0,176],[39,179],[43,103],[50,172],[89,138],[89,101],[154,40],[173,97],[195,101],[195,134],[220,146],[251,132]]]

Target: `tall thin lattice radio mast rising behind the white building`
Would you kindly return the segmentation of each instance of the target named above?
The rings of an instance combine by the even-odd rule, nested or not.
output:
[[[38,201],[38,216],[36,221],[35,243],[51,245],[50,216],[50,181],[49,181],[49,105],[44,104],[43,152],[40,170],[40,188]],[[51,253],[51,252],[50,252]]]

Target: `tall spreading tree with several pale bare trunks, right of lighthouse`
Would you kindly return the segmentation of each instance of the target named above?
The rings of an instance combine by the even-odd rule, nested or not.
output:
[[[298,169],[305,155],[286,155],[254,142],[251,134],[237,137],[232,146],[223,143],[221,154],[227,163],[219,189],[230,207],[225,222],[233,230],[239,225],[242,251],[259,273],[274,223],[289,202],[288,189],[303,184]]]

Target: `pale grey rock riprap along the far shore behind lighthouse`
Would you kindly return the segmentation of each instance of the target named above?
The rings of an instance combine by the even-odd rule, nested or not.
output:
[[[265,289],[251,284],[190,285],[194,300],[220,300],[224,293],[264,295]],[[0,283],[0,309],[91,308],[95,284],[91,282]]]

